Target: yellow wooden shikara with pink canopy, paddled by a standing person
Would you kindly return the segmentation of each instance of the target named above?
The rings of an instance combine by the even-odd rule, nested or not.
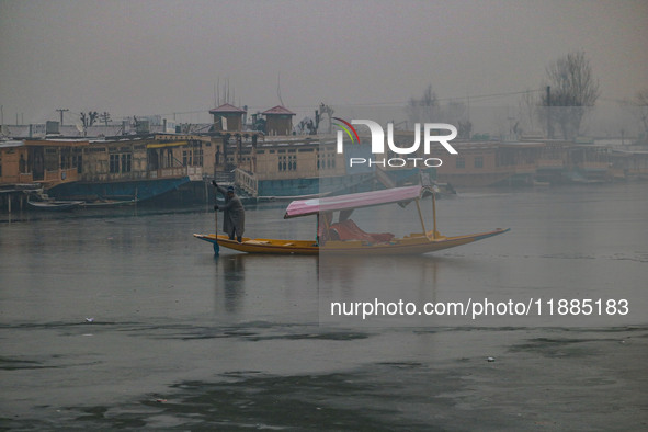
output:
[[[433,229],[425,229],[420,202],[424,197],[432,197]],[[397,203],[401,206],[414,202],[421,221],[421,231],[413,232],[402,238],[395,238],[388,232],[371,234],[357,228],[349,219],[355,208],[372,207],[384,204]],[[339,219],[332,224],[333,212],[340,212]],[[317,241],[312,240],[277,240],[266,238],[243,237],[239,243],[227,236],[214,234],[194,234],[194,237],[214,245],[214,251],[218,253],[219,246],[248,253],[273,254],[319,254],[319,253],[353,253],[366,255],[388,254],[420,254],[456,246],[471,243],[489,237],[498,236],[509,229],[497,228],[491,231],[469,234],[463,236],[446,237],[436,230],[436,204],[431,186],[394,187],[383,191],[363,192],[356,194],[329,196],[292,202],[284,215],[285,219],[317,215],[318,235]]]

